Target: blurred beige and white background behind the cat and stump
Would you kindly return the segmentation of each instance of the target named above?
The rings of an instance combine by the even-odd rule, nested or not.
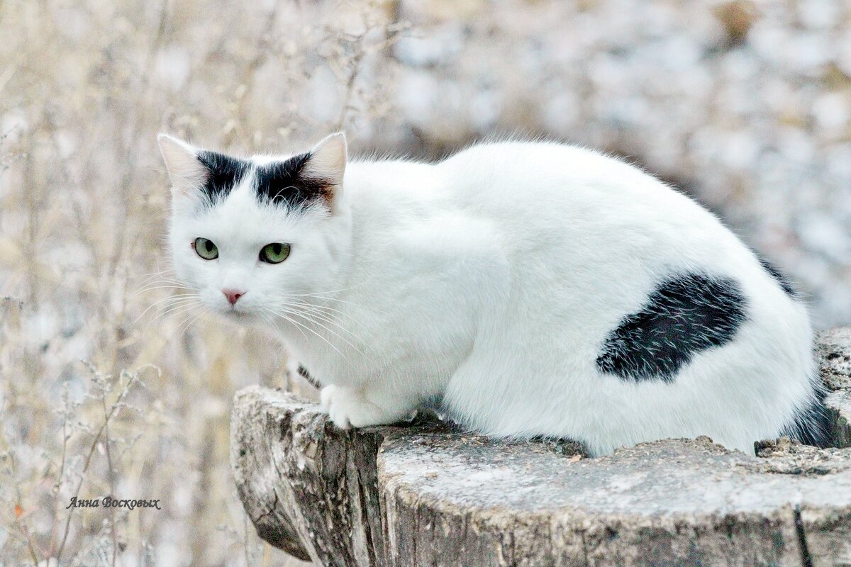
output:
[[[181,303],[157,132],[602,148],[722,216],[816,326],[851,323],[842,0],[2,0],[0,30],[0,565],[300,564],[245,518],[228,412],[251,383],[311,392]],[[107,494],[163,509],[66,509]]]

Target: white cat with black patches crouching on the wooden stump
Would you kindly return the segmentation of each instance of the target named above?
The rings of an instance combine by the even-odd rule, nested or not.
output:
[[[591,455],[708,435],[825,445],[802,299],[688,196],[601,152],[472,145],[349,160],[335,133],[248,159],[165,134],[175,273],[268,326],[340,428],[426,402]]]

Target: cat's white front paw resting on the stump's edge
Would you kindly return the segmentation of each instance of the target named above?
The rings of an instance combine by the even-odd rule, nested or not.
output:
[[[341,429],[363,428],[369,425],[387,425],[410,417],[415,405],[394,400],[386,395],[386,388],[346,388],[328,385],[320,394],[322,406],[334,425]]]

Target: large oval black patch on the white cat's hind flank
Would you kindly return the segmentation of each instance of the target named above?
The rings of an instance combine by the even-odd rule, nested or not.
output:
[[[736,281],[677,275],[608,333],[597,368],[627,381],[670,383],[694,354],[731,341],[744,320],[745,298]]]

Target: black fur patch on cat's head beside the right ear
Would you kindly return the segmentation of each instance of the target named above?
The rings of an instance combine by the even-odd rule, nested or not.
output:
[[[333,184],[306,173],[311,154],[300,154],[283,162],[257,167],[257,197],[261,202],[290,210],[306,207],[320,199],[330,202]]]

